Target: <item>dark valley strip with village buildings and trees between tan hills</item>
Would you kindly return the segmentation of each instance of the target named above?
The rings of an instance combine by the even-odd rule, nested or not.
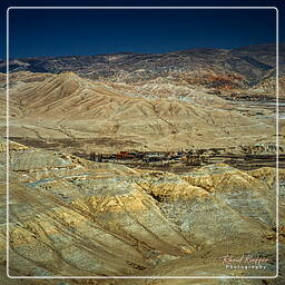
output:
[[[279,146],[279,151],[283,151],[282,146]],[[116,154],[90,151],[75,153],[75,155],[96,163],[114,163],[128,167],[161,170],[167,170],[171,166],[193,168],[215,163],[225,163],[242,169],[274,166],[276,164],[276,146],[274,144],[256,144],[230,148],[180,149],[176,151],[121,150]]]

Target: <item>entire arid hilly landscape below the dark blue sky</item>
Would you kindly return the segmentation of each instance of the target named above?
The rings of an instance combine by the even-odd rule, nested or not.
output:
[[[11,60],[10,275],[275,276],[277,184],[285,254],[282,59],[278,137],[274,45]],[[6,88],[1,73],[2,185]],[[3,188],[3,214],[4,195]],[[20,284],[4,277],[4,216],[0,245],[0,284]],[[223,259],[228,255],[263,257],[263,266],[228,268]],[[21,284],[284,284],[282,259],[277,279],[242,283]]]

